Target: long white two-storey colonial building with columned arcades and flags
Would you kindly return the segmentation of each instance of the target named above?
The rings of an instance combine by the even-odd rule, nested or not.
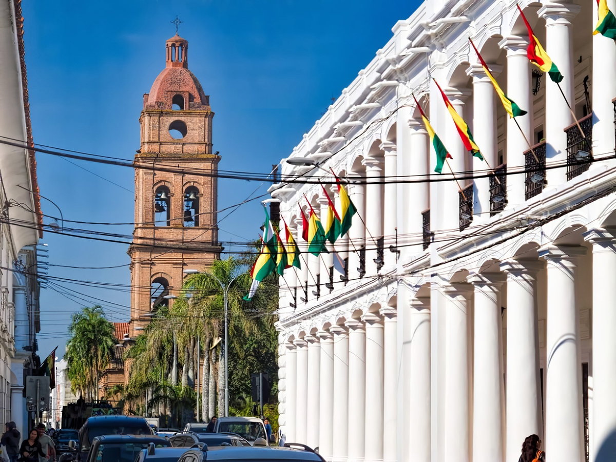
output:
[[[330,168],[367,223],[330,246],[346,280],[331,253],[281,279],[288,442],[330,461],[517,462],[538,434],[548,460],[616,460],[616,42],[593,36],[594,0],[520,6],[585,136],[527,59],[516,1],[428,0],[282,161],[270,192],[304,251],[299,207],[305,194],[325,221]],[[528,111],[521,130],[469,37]],[[412,93],[458,182],[434,173]]]

